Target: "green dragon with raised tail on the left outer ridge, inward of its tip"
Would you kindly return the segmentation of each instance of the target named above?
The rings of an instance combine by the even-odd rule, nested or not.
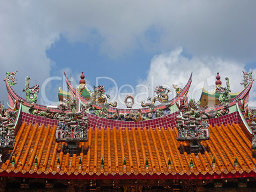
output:
[[[25,88],[22,90],[22,92],[25,92],[25,98],[26,102],[28,103],[36,103],[38,100],[38,93],[39,93],[39,85],[32,86],[32,88],[29,87],[29,80],[30,77],[26,78]]]

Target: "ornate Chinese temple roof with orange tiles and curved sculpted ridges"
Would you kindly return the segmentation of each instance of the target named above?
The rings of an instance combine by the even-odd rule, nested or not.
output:
[[[129,109],[110,105],[104,86],[95,87],[89,100],[82,95],[86,86],[76,89],[67,78],[70,93],[62,92],[62,96],[69,102],[60,101],[58,108],[40,106],[36,104],[38,90],[29,87],[29,77],[26,99],[22,99],[11,88],[13,77],[8,75],[11,113],[10,119],[1,118],[0,175],[46,179],[256,177],[256,136],[249,126],[256,113],[247,105],[254,79],[252,72],[244,75],[245,88],[234,98],[229,95],[228,78],[227,88],[217,86],[221,104],[211,108],[193,99],[188,102],[191,74],[184,88],[175,86],[173,99],[167,97],[171,90],[157,86],[152,103],[142,102],[144,109],[134,110],[129,108],[132,105]],[[127,96],[132,100],[132,95]],[[154,106],[157,99],[161,104]]]

